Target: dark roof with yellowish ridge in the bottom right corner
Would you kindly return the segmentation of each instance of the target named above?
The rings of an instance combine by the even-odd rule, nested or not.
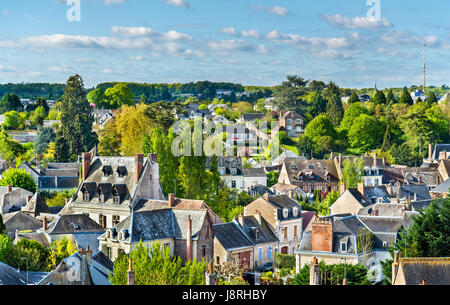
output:
[[[406,285],[450,285],[450,258],[400,258]]]

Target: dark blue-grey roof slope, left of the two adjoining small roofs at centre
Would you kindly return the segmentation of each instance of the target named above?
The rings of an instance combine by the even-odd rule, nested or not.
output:
[[[225,250],[253,247],[253,242],[235,222],[213,225],[217,240]]]

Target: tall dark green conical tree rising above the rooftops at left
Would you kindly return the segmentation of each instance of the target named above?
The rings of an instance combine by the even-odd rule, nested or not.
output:
[[[97,134],[92,131],[93,122],[83,80],[79,75],[71,76],[61,103],[61,132],[56,135],[56,155],[61,158],[58,162],[75,161],[82,152],[90,151],[98,144]],[[58,144],[61,137],[69,148],[67,153],[61,151],[65,145]]]

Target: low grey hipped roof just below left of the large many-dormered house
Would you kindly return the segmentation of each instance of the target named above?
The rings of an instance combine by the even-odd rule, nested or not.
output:
[[[85,214],[59,215],[48,225],[47,234],[77,234],[104,232],[105,229]]]

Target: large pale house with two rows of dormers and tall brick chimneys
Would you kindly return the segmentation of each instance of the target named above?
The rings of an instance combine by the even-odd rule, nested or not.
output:
[[[83,153],[82,182],[60,214],[86,214],[111,228],[142,199],[164,200],[156,155],[92,158]]]

